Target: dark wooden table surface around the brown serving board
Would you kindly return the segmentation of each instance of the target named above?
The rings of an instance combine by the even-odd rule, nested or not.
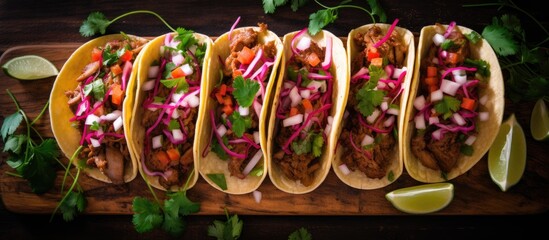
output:
[[[493,0],[496,2],[496,0]],[[333,6],[337,1],[322,1],[326,5]],[[463,4],[475,1],[397,1],[380,0],[387,12],[388,21],[399,18],[399,26],[419,33],[421,27],[437,21],[448,23],[455,20],[458,24],[468,26],[481,32],[483,27],[492,21],[492,17],[506,12],[513,12],[509,8],[498,11],[496,7],[463,8]],[[491,1],[488,1],[491,2]],[[365,1],[354,1],[353,4],[366,6]],[[538,17],[546,28],[548,26],[546,12],[534,4],[521,3],[530,14]],[[81,44],[90,38],[80,36],[78,29],[82,21],[92,11],[101,11],[109,19],[131,10],[151,10],[163,16],[172,26],[182,26],[193,29],[210,36],[219,36],[226,32],[235,19],[240,16],[239,26],[255,25],[257,22],[269,24],[269,29],[279,36],[305,27],[310,13],[320,9],[313,1],[308,5],[292,12],[289,6],[277,9],[275,14],[265,14],[261,1],[68,1],[68,0],[1,0],[0,1],[0,54],[13,47],[28,45],[53,45],[53,44]],[[516,12],[515,12],[516,13]],[[526,31],[532,35],[530,38],[539,38],[536,35],[536,26],[528,21],[525,15],[516,13],[523,19]],[[356,9],[342,9],[335,24],[329,25],[326,30],[336,36],[346,37],[347,33],[355,27],[371,23],[370,17]],[[151,15],[133,15],[126,17],[111,26],[109,32],[124,31],[140,36],[157,36],[169,31],[158,19]],[[1,80],[5,80],[2,75]],[[2,84],[7,88],[25,89],[33,87],[30,83],[19,83],[10,80],[10,84]],[[38,81],[51,88],[53,79]],[[21,88],[21,84],[24,85]],[[46,88],[47,88],[46,86]],[[1,89],[2,97],[0,108],[0,120],[13,112],[12,102]],[[49,91],[49,90],[48,90]],[[44,97],[46,96],[46,97]],[[47,95],[40,101],[24,100],[24,108],[36,112],[45,104]],[[9,106],[9,107],[8,107]],[[396,212],[395,214],[249,214],[240,215],[244,221],[241,239],[287,239],[288,235],[305,227],[312,233],[313,239],[424,239],[424,238],[450,238],[464,239],[479,236],[479,234],[494,236],[517,235],[526,237],[530,234],[545,234],[542,225],[546,225],[548,218],[547,181],[549,171],[547,167],[547,142],[537,142],[531,138],[529,129],[530,111],[532,102],[511,103],[506,102],[506,115],[515,113],[520,124],[525,130],[528,146],[528,158],[536,164],[527,164],[523,180],[513,187],[509,194],[524,193],[531,197],[532,202],[545,201],[541,212],[515,213],[512,209],[489,214],[432,214],[432,215],[407,215]],[[29,110],[30,109],[30,110]],[[43,126],[42,131],[48,132],[48,126]],[[50,133],[51,134],[51,133]],[[51,135],[50,135],[51,136]],[[3,143],[1,148],[3,149]],[[0,167],[5,169],[6,155],[0,159]],[[479,163],[477,172],[485,177],[486,159]],[[3,166],[4,165],[4,166]],[[0,172],[3,174],[3,172]],[[332,173],[333,174],[333,173]],[[406,175],[406,174],[404,174]],[[332,176],[333,177],[333,176]],[[409,176],[403,176],[406,183],[413,183]],[[407,179],[407,180],[406,180]],[[458,180],[459,181],[459,180]],[[544,181],[542,184],[529,184],[535,181]],[[466,181],[465,181],[466,182]],[[416,182],[417,184],[417,182]],[[542,189],[530,189],[529,185],[543,186]],[[402,186],[399,185],[399,186]],[[494,188],[496,186],[494,185]],[[393,187],[394,188],[394,187]],[[1,194],[1,193],[0,193]],[[541,197],[542,199],[536,199]],[[470,199],[475,199],[474,196]],[[527,199],[528,200],[528,199]],[[510,205],[510,208],[528,209],[530,201],[522,201]],[[461,203],[463,204],[463,203]],[[474,208],[474,202],[471,202]],[[288,211],[291,212],[291,211]],[[236,212],[238,213],[238,212]],[[49,214],[22,214],[9,211],[0,202],[0,239],[43,239],[46,237],[56,239],[159,239],[169,238],[161,231],[139,234],[135,231],[130,214],[86,214],[78,216],[72,222],[64,222],[60,217],[49,221]],[[209,239],[207,227],[214,220],[225,220],[222,214],[193,215],[187,217],[187,231],[183,235],[185,239]],[[542,235],[543,236],[543,235]]]

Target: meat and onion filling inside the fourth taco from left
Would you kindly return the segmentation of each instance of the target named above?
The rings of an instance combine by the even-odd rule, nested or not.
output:
[[[327,37],[326,47],[319,47],[306,32],[301,30],[291,42],[276,109],[273,160],[287,178],[309,186],[331,131],[334,79],[329,71],[332,39]]]

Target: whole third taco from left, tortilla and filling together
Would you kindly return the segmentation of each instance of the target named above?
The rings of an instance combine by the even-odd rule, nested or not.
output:
[[[266,119],[282,41],[260,23],[219,36],[210,56],[200,174],[225,193],[250,193],[267,175]]]

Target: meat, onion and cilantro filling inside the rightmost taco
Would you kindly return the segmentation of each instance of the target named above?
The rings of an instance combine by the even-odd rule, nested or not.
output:
[[[480,39],[478,33],[463,34],[455,22],[447,28],[436,27],[421,62],[420,88],[414,99],[416,131],[410,145],[425,167],[447,173],[462,154],[473,153],[475,122],[485,115],[478,111],[479,89],[490,72],[486,61],[471,56],[469,45]]]

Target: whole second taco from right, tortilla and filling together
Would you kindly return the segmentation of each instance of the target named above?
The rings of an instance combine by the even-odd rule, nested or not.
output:
[[[402,174],[400,137],[414,69],[414,35],[368,24],[347,38],[349,93],[332,167],[357,189],[385,187]]]

